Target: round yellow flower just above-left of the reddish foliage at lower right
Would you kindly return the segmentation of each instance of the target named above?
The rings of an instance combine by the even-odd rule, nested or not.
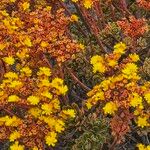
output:
[[[117,105],[114,102],[108,102],[106,105],[103,107],[104,113],[105,114],[114,114],[115,111],[117,110]]]

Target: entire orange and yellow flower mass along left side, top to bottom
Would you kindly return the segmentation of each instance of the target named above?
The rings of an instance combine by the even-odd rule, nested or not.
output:
[[[0,10],[0,140],[9,140],[11,150],[44,149],[75,117],[63,108],[68,87],[53,76],[47,57],[60,65],[84,46],[68,36],[71,18],[62,9],[52,14],[51,6],[11,3],[15,11]]]

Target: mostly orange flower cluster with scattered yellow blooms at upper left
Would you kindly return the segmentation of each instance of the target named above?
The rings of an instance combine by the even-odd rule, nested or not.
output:
[[[0,11],[0,56],[6,57],[6,63],[14,64],[15,54],[21,61],[29,59],[30,55],[34,66],[42,63],[39,58],[45,53],[61,64],[84,49],[82,44],[68,36],[66,31],[72,19],[64,15],[63,9],[52,14],[51,6],[32,10],[29,2],[20,2],[18,5],[23,5],[23,9],[19,7],[13,14]],[[38,57],[34,56],[35,53]]]

